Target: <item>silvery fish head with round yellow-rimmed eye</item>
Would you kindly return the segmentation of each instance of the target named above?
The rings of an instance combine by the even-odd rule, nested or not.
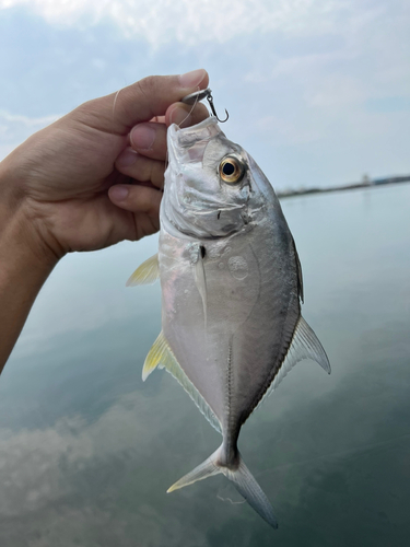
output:
[[[245,150],[230,141],[214,117],[167,133],[161,220],[188,236],[223,237],[251,228],[272,188]]]

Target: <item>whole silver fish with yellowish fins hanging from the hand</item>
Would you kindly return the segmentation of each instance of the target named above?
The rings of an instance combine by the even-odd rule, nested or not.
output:
[[[127,282],[161,280],[162,331],[142,379],[165,368],[222,434],[220,447],[167,491],[223,474],[277,528],[237,441],[248,417],[298,361],[312,359],[330,373],[301,315],[295,242],[270,182],[215,117],[169,126],[167,149],[159,253]]]

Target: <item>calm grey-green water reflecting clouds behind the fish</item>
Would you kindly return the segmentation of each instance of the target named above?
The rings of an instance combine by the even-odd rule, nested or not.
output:
[[[409,545],[409,203],[283,201],[332,374],[301,362],[242,431],[277,532],[222,475],[165,493],[220,437],[166,372],[141,381],[160,287],[125,281],[156,238],[65,258],[0,379],[0,545]]]

